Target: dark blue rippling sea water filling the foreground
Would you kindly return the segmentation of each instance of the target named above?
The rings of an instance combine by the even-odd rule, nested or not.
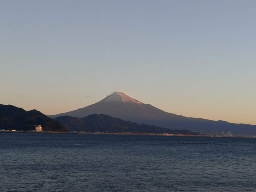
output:
[[[1,192],[255,192],[256,138],[0,133]]]

